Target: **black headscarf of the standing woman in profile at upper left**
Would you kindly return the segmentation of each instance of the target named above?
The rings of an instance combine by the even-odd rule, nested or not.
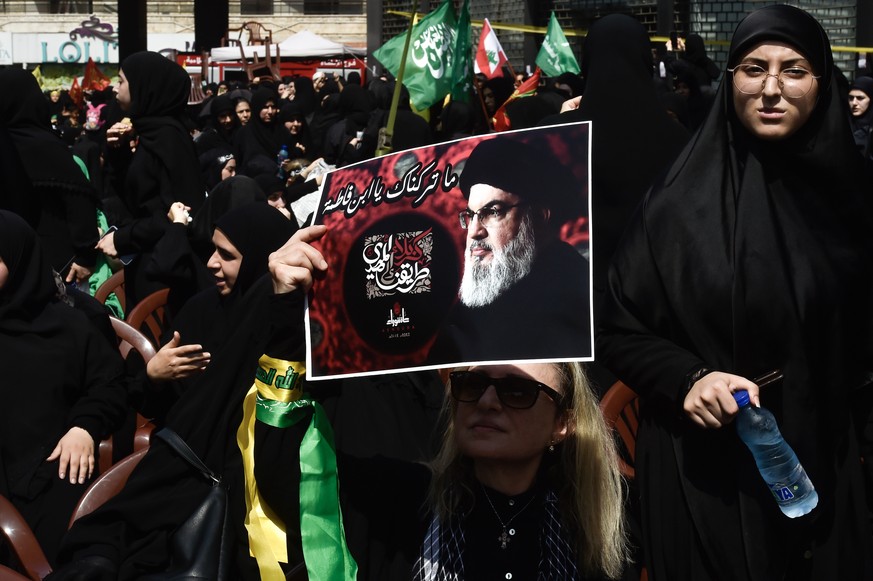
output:
[[[130,110],[139,147],[166,168],[172,191],[161,192],[169,207],[183,202],[196,211],[205,188],[197,171],[197,153],[183,121],[191,77],[185,69],[156,52],[137,52],[121,63],[130,87]],[[129,176],[129,179],[136,176]]]

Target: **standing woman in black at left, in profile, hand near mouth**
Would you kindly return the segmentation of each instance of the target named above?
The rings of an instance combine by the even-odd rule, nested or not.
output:
[[[107,159],[115,168],[116,191],[133,219],[100,241],[109,256],[137,255],[124,267],[127,304],[135,305],[165,286],[143,265],[163,236],[167,211],[182,202],[197,213],[205,199],[199,163],[183,116],[191,89],[185,69],[155,52],[124,59],[116,87],[118,104],[132,123],[106,132]],[[136,151],[128,147],[135,132]]]

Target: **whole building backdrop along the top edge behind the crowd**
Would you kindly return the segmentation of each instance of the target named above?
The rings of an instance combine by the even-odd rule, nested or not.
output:
[[[128,0],[129,1],[129,0]],[[139,0],[146,6],[147,48],[188,52],[195,44],[195,0]],[[220,2],[221,0],[216,0]],[[119,60],[119,7],[125,0],[4,0],[0,5],[0,65],[42,65],[46,79],[64,77],[93,58],[114,74]],[[461,0],[454,0],[460,6]],[[440,0],[230,0],[228,24],[257,20],[275,41],[310,30],[369,52],[403,32],[413,9],[426,13]],[[472,0],[471,17],[488,18],[516,69],[533,67],[542,34],[501,29],[500,24],[544,27],[555,12],[577,59],[585,30],[615,12],[639,18],[653,36],[695,32],[709,43],[710,56],[723,64],[736,24],[772,0]],[[873,46],[871,0],[799,0],[792,4],[814,14],[835,46]],[[479,28],[473,28],[473,46]],[[873,51],[871,51],[873,52]],[[838,50],[835,60],[851,78],[864,55]],[[869,65],[867,65],[869,67]],[[370,69],[379,70],[370,60]],[[55,71],[60,73],[55,74]],[[78,74],[81,74],[79,72]],[[62,84],[62,83],[61,83]]]

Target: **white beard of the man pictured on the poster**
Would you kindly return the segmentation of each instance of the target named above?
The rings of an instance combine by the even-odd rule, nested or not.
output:
[[[491,263],[482,264],[478,258],[470,257],[470,250],[483,248],[492,252]],[[530,273],[536,254],[533,221],[530,215],[524,217],[518,235],[499,250],[487,242],[474,240],[467,250],[464,262],[464,277],[458,296],[468,307],[484,307],[494,302],[505,290]]]

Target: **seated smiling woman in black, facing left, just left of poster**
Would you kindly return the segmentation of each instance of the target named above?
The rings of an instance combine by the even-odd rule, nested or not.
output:
[[[235,539],[231,579],[258,579],[243,526],[245,487],[236,435],[258,358],[272,341],[274,328],[284,330],[284,321],[302,305],[302,295],[274,295],[269,277],[264,277],[270,253],[295,228],[266,204],[247,204],[225,214],[216,222],[217,256],[210,259],[210,265],[221,263],[211,268],[216,285],[191,299],[176,319],[211,358],[192,376],[166,425],[227,485]],[[64,566],[49,578],[133,580],[166,571],[173,532],[210,487],[162,440],[153,439],[124,489],[70,529],[59,558]]]

